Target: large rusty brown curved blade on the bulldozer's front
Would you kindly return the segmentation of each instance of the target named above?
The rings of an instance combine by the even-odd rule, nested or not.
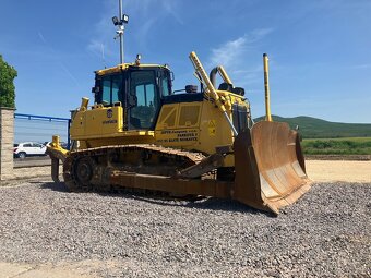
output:
[[[287,123],[261,121],[234,144],[232,198],[278,214],[309,189],[299,134]]]

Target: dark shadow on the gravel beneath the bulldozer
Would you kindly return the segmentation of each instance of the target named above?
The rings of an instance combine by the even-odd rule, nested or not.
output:
[[[39,183],[39,182],[38,182]],[[41,189],[48,189],[58,192],[69,192],[63,182],[46,182],[40,185]],[[111,196],[111,197],[122,197],[122,198],[131,198],[147,202],[155,205],[160,206],[179,206],[179,207],[188,207],[188,208],[198,208],[198,209],[207,209],[207,210],[220,210],[220,211],[234,211],[234,213],[242,213],[242,214],[252,214],[252,215],[266,215],[268,217],[275,217],[273,214],[267,211],[258,210],[255,208],[243,205],[237,201],[232,200],[223,200],[216,197],[201,197],[196,201],[189,201],[182,198],[161,198],[158,196],[144,196],[142,194],[133,194],[133,193],[104,193],[104,192],[94,192],[101,196]]]

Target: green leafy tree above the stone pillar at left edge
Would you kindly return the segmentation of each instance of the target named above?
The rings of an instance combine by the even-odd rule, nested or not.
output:
[[[16,70],[0,55],[0,107],[15,108],[14,78],[16,75]]]

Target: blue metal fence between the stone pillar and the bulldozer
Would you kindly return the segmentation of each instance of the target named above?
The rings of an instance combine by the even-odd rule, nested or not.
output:
[[[60,135],[61,142],[70,147],[70,123],[67,118],[14,113],[14,143],[45,144],[52,135]]]

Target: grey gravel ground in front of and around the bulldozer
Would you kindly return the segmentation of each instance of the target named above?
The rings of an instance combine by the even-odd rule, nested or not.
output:
[[[216,198],[76,194],[62,183],[17,182],[0,188],[3,262],[107,262],[95,268],[100,277],[371,276],[371,184],[314,184],[272,217]]]

